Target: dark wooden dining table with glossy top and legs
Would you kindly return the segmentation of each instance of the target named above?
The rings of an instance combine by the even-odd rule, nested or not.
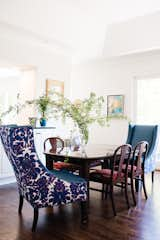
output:
[[[115,145],[89,144],[85,146],[85,149],[79,151],[71,151],[69,148],[64,148],[60,153],[45,151],[46,167],[53,170],[53,162],[65,160],[77,164],[81,169],[80,176],[87,182],[89,200],[89,172],[91,166],[100,160],[111,160],[116,147]]]

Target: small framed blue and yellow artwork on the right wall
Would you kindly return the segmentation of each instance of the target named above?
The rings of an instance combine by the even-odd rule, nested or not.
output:
[[[107,96],[108,117],[120,117],[124,115],[124,95]]]

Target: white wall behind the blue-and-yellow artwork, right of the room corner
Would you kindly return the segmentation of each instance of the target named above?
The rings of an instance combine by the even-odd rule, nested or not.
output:
[[[124,94],[125,115],[135,120],[136,77],[160,77],[160,52],[152,52],[104,61],[74,65],[71,76],[72,98],[84,98],[91,91],[97,95]],[[128,121],[112,120],[110,127],[93,127],[90,141],[121,144],[126,141]]]

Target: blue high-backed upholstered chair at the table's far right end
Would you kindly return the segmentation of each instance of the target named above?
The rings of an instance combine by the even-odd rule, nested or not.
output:
[[[135,147],[138,142],[147,141],[149,143],[148,152],[146,155],[144,172],[152,173],[152,182],[154,181],[154,170],[157,160],[157,145],[158,145],[158,125],[132,125],[129,124],[127,142]]]

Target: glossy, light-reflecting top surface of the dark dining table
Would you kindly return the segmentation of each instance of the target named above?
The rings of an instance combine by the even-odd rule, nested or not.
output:
[[[60,153],[50,153],[49,151],[44,152],[45,155],[57,156],[57,157],[69,157],[77,159],[102,159],[113,156],[116,145],[106,144],[89,144],[85,148],[79,151],[71,151],[69,148],[64,148]]]

